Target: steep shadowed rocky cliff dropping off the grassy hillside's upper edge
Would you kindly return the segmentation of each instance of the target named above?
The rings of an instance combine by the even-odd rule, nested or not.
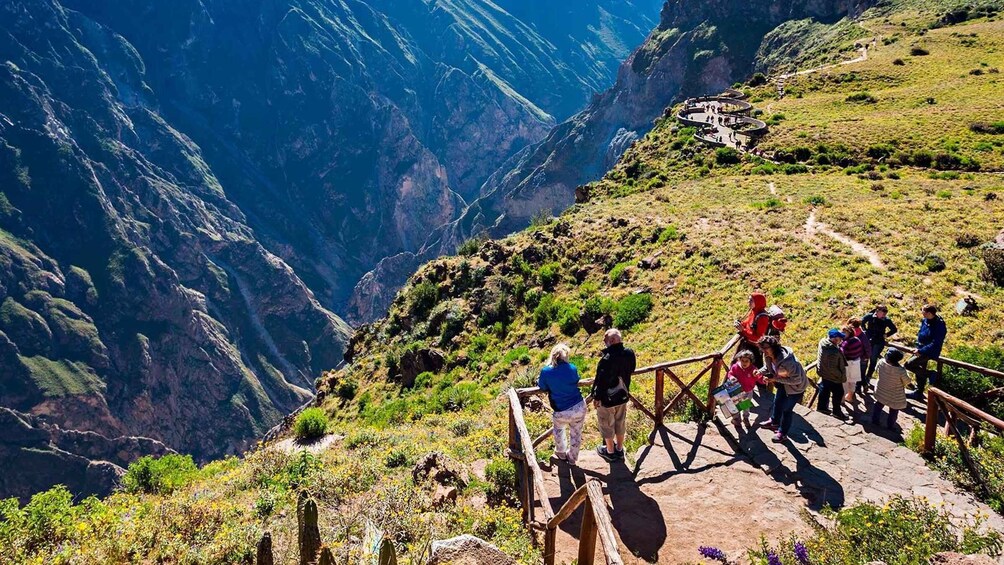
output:
[[[371,317],[386,310],[394,291],[415,268],[453,253],[466,239],[481,233],[509,234],[526,227],[541,211],[567,208],[574,202],[575,188],[602,177],[667,106],[745,79],[764,37],[784,22],[805,18],[836,22],[856,16],[868,4],[868,0],[667,2],[659,27],[620,66],[612,88],[500,167],[462,217],[436,230],[421,251],[380,264],[356,288],[350,311],[356,317]]]

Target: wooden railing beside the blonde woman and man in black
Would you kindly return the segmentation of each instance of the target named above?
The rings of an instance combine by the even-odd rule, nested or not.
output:
[[[721,383],[722,368],[725,366],[724,358],[739,343],[739,339],[738,335],[734,336],[724,347],[712,353],[637,369],[634,373],[635,375],[655,374],[655,402],[650,408],[635,394],[629,392],[630,401],[639,411],[652,419],[657,429],[663,426],[668,413],[687,400],[693,400],[698,408],[710,418],[715,413],[715,397],[712,392]],[[690,378],[687,382],[677,374],[681,372],[679,367],[699,363],[706,364],[698,371],[696,376]],[[693,389],[705,375],[709,376],[708,396],[702,398]],[[680,387],[680,390],[669,401],[666,398],[667,378]],[[581,388],[589,388],[592,386],[592,380],[582,380],[579,381],[578,385]],[[620,564],[622,561],[617,552],[616,538],[613,534],[613,528],[610,525],[606,503],[603,502],[602,490],[597,481],[590,480],[586,482],[585,485],[572,494],[556,513],[551,507],[550,499],[547,496],[544,486],[543,473],[540,470],[540,465],[537,463],[535,451],[540,444],[552,437],[551,431],[548,429],[539,436],[531,436],[523,415],[523,401],[530,396],[543,393],[544,391],[536,386],[518,389],[510,388],[508,391],[508,453],[516,466],[519,499],[523,507],[523,522],[531,530],[542,531],[544,533],[544,564],[553,565],[557,528],[579,506],[585,504],[586,511],[583,513],[581,535],[579,536],[579,565],[591,565],[593,563],[593,553],[595,552],[597,537],[606,564]],[[585,398],[587,409],[592,403],[591,399],[591,395]],[[540,504],[543,514],[540,517],[541,519],[538,519],[536,516],[537,503]]]

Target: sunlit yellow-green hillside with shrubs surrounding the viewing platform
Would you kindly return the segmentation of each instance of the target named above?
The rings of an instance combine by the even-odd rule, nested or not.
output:
[[[1004,22],[980,15],[938,27],[946,8],[930,4],[896,0],[868,10],[861,24],[878,39],[868,58],[793,78],[788,96],[778,98],[772,83],[745,87],[772,123],[761,147],[782,165],[705,148],[692,129],[659,119],[589,185],[587,202],[423,265],[389,315],[353,334],[349,362],[323,374],[316,405],[330,418],[324,441],[283,439],[194,473],[180,469],[184,480],[163,490],[141,486],[75,505],[59,490],[28,507],[0,501],[0,515],[10,517],[0,528],[0,548],[9,550],[0,559],[241,563],[253,559],[264,532],[276,555],[292,559],[297,496],[306,491],[339,562],[359,558],[369,523],[394,540],[403,562],[420,559],[431,539],[473,534],[518,562],[539,563],[512,503],[502,393],[532,383],[558,341],[593,376],[608,323],[624,330],[643,365],[711,350],[730,337],[755,288],[788,313],[785,342],[803,360],[829,327],[878,301],[905,338],[923,304],[940,304],[948,351],[965,345],[987,351],[985,362],[1001,359],[1004,279],[989,276],[990,248],[982,245],[1004,217],[1004,127],[988,120],[1004,111],[994,95],[1001,74],[992,71],[1004,67]],[[833,58],[854,56],[851,37],[835,40]],[[964,295],[981,308],[953,313]],[[690,380],[696,371],[680,372]],[[667,393],[676,391],[670,385]],[[652,405],[651,379],[636,379],[633,392]],[[688,419],[689,411],[670,416]],[[639,410],[629,413],[631,454],[651,427]],[[533,434],[549,421],[546,408],[528,410]],[[851,429],[873,432],[860,421]],[[587,449],[598,444],[591,416],[584,438]],[[817,445],[808,442],[801,448]],[[681,462],[690,449],[676,452]],[[978,457],[995,485],[1002,449],[988,441]],[[413,472],[423,460],[442,461],[426,458],[431,452],[460,479],[455,499],[437,498],[434,482],[423,481],[428,465]],[[688,463],[695,474],[704,466],[700,458]],[[624,465],[636,464],[629,456]],[[961,469],[954,481],[968,473]],[[571,486],[566,475],[561,481]],[[32,522],[40,510],[52,519]],[[899,528],[906,518],[887,523]],[[847,543],[855,547],[888,549],[900,539],[852,524],[856,537]],[[924,524],[896,533],[915,539]],[[790,547],[784,534],[768,541]],[[870,560],[826,555],[833,563]]]

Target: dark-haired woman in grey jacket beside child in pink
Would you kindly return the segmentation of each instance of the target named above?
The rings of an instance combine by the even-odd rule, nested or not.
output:
[[[782,385],[777,386],[771,417],[764,422],[764,428],[777,432],[771,441],[781,444],[788,439],[794,417],[792,412],[795,406],[801,403],[809,379],[805,375],[805,367],[798,362],[794,351],[782,347],[776,336],[765,336],[760,339],[758,345],[763,353],[763,367],[759,374],[765,376],[770,384]]]

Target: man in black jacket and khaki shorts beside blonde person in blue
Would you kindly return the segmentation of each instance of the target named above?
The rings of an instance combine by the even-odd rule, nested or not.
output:
[[[596,453],[606,462],[624,457],[624,435],[628,421],[628,399],[631,377],[635,374],[635,352],[624,347],[623,337],[616,328],[603,334],[602,356],[596,364],[596,378],[592,383],[596,423],[603,445]]]

